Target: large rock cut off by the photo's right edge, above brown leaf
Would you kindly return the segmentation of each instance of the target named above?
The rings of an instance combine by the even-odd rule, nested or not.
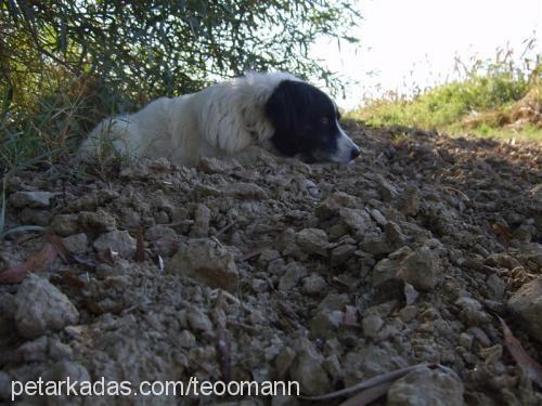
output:
[[[542,342],[542,278],[521,286],[506,305],[519,318],[524,328]]]

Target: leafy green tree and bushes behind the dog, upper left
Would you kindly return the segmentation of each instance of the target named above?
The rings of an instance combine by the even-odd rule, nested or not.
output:
[[[337,77],[308,56],[354,42],[348,0],[0,1],[0,163],[52,165],[100,118],[245,70]]]

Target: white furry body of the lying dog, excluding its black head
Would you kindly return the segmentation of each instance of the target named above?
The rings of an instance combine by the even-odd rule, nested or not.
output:
[[[103,120],[81,144],[88,160],[105,145],[130,157],[166,157],[173,163],[195,165],[202,157],[228,156],[273,135],[264,105],[285,73],[247,74],[197,93],[160,97],[138,113]]]

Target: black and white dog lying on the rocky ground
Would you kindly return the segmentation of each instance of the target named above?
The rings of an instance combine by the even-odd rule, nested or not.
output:
[[[250,73],[107,118],[89,134],[78,156],[88,160],[108,143],[131,157],[195,165],[202,157],[234,156],[259,145],[309,162],[349,162],[360,149],[338,119],[335,103],[313,86],[285,73]]]

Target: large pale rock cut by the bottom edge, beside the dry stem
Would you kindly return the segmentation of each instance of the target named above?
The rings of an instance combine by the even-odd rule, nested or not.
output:
[[[397,380],[388,391],[388,406],[462,406],[463,382],[449,368],[417,368]]]

